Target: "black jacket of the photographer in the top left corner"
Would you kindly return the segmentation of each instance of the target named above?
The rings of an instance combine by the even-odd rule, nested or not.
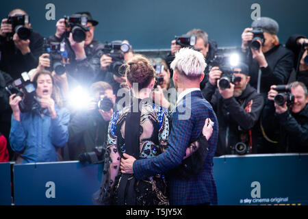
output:
[[[33,31],[29,40],[31,52],[23,55],[16,48],[13,40],[8,42],[6,38],[0,36],[0,70],[10,74],[13,79],[20,78],[21,73],[38,66],[38,57],[42,54],[44,38]]]

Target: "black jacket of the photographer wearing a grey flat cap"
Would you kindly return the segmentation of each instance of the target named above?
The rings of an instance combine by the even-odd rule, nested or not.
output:
[[[248,49],[247,53],[242,53],[243,58],[249,66],[251,76],[251,86],[257,89],[257,80],[259,73],[259,64],[253,60],[252,53]],[[260,93],[264,95],[264,99],[273,84],[286,84],[290,78],[293,69],[293,53],[285,49],[281,44],[274,46],[272,49],[264,53],[268,66],[261,68]]]

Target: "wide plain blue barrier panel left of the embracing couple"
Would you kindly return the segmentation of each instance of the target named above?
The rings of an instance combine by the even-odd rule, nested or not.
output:
[[[15,205],[92,205],[102,168],[77,161],[15,165]]]

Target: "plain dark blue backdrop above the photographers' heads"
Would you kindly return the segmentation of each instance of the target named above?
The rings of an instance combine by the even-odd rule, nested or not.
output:
[[[55,5],[55,21],[45,18],[48,3]],[[261,16],[277,20],[281,43],[291,34],[308,35],[307,0],[12,0],[1,1],[0,15],[23,8],[34,29],[47,37],[65,14],[88,10],[99,21],[95,36],[101,42],[127,39],[135,49],[169,49],[175,35],[201,28],[219,47],[235,47],[251,25],[253,3],[261,6]]]

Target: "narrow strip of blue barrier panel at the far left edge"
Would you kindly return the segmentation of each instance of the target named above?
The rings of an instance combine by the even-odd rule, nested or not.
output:
[[[10,162],[0,163],[0,205],[11,205]]]

